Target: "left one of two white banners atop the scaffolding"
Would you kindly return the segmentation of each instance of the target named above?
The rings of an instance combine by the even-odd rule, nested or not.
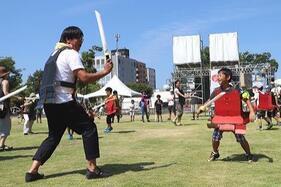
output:
[[[173,37],[173,63],[176,65],[200,63],[200,36]]]

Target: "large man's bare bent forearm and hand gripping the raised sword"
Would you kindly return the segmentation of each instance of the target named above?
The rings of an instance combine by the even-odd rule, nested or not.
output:
[[[88,73],[84,69],[76,69],[73,71],[73,73],[75,77],[79,79],[79,81],[83,83],[92,83],[92,82],[96,82],[97,80],[109,74],[112,68],[113,68],[112,61],[108,60],[105,63],[104,69],[102,71],[96,73]]]

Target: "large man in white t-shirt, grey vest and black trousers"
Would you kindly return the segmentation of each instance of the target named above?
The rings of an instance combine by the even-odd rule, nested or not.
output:
[[[54,54],[58,54],[57,51],[59,51],[60,53],[55,61],[55,81],[59,83],[70,83],[70,85],[74,85],[74,88],[69,86],[69,84],[68,86],[52,84],[53,87],[55,86],[54,94],[42,95],[45,96],[45,99],[47,98],[49,99],[48,101],[50,101],[48,103],[47,99],[44,100],[44,111],[48,119],[49,135],[42,142],[33,157],[33,163],[25,175],[26,182],[35,181],[44,177],[43,174],[38,173],[39,167],[51,157],[67,127],[73,129],[77,134],[82,134],[87,160],[86,178],[93,179],[104,176],[104,173],[96,164],[96,159],[100,156],[96,125],[85,109],[74,100],[73,93],[76,80],[83,83],[96,82],[110,73],[113,65],[112,61],[107,59],[103,70],[96,73],[86,72],[78,53],[83,43],[83,36],[81,29],[76,26],[65,28],[61,34],[60,43],[57,44],[55,52],[45,65],[46,69],[44,69],[44,73],[46,70],[47,73],[51,74],[51,68],[47,65],[50,64],[50,62],[52,62],[52,65],[54,64],[53,56]],[[67,47],[67,49],[65,49],[65,47]],[[42,80],[41,83],[43,84],[44,80],[52,80],[52,77],[43,75]],[[41,88],[42,90],[45,88],[42,84],[40,93]],[[42,94],[43,93],[45,92],[42,92]],[[53,95],[55,95],[54,99]],[[40,95],[41,101],[42,98],[43,97]],[[51,101],[53,103],[51,103]]]

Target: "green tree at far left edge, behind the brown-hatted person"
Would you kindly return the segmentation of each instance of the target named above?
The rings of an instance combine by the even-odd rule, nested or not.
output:
[[[19,88],[20,84],[22,83],[22,69],[16,69],[15,61],[11,57],[0,59],[0,65],[4,66],[11,72],[9,76],[10,90],[13,91],[16,88]]]

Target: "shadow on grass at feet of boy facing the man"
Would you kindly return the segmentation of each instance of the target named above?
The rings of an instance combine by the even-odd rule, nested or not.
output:
[[[268,162],[272,163],[273,158],[264,155],[264,154],[253,154],[253,162],[258,162],[260,159],[267,159]],[[245,157],[245,154],[233,154],[231,156],[228,156],[226,158],[221,159],[221,161],[226,161],[226,162],[241,162],[241,161],[248,161],[247,158]]]

